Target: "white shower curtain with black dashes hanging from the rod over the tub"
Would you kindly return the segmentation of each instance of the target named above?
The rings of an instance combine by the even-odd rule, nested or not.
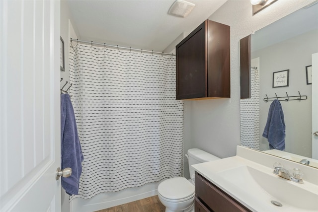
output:
[[[84,161],[79,195],[139,187],[183,175],[183,101],[175,56],[78,43],[70,83]]]

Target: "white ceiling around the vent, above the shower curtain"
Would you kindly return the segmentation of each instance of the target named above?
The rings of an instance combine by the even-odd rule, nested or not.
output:
[[[227,0],[195,4],[182,18],[168,14],[174,0],[67,0],[79,40],[163,52],[181,33],[190,33]]]

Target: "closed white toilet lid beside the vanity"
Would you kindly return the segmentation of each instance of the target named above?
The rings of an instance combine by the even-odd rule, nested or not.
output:
[[[194,185],[184,177],[173,177],[159,184],[158,193],[166,199],[184,199],[194,194]]]

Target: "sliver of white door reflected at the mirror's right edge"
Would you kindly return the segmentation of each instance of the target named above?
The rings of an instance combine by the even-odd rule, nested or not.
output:
[[[318,159],[318,53],[312,55],[312,95],[313,159]]]

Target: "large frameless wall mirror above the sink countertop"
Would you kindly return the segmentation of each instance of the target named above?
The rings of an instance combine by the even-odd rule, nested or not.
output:
[[[312,158],[310,66],[316,52],[318,3],[251,35],[252,98],[241,99],[241,145],[296,162]],[[269,142],[262,136],[273,99],[280,100],[284,113],[285,151],[269,150]],[[315,161],[309,165],[315,167]]]

